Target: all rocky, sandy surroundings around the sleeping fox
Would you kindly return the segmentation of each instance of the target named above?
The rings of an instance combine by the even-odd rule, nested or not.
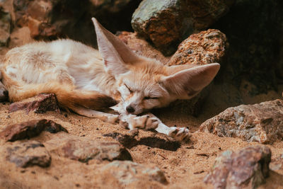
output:
[[[59,110],[0,104],[0,188],[283,188],[283,2],[2,0],[0,55],[33,40],[96,47],[91,17],[139,55],[209,64],[214,83],[154,110],[190,142]],[[3,94],[5,96],[6,94]]]

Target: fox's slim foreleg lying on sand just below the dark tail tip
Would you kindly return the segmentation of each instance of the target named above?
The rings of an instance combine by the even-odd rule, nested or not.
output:
[[[98,118],[100,120],[103,120],[104,122],[109,122],[112,124],[119,123],[119,115],[103,113],[100,111],[91,110],[83,107],[72,108],[72,110],[74,110],[75,113],[86,116],[88,118]]]

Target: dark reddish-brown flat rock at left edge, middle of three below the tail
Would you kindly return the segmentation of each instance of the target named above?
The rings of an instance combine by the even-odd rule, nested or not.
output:
[[[19,139],[27,139],[36,137],[42,131],[56,133],[60,131],[67,132],[61,125],[52,120],[30,120],[28,122],[21,122],[15,125],[8,125],[0,132],[0,139],[8,141],[16,141]]]

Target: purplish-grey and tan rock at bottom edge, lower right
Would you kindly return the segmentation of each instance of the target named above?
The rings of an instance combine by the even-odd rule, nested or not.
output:
[[[204,178],[214,188],[257,188],[269,175],[271,151],[268,147],[246,147],[238,152],[224,151]]]

